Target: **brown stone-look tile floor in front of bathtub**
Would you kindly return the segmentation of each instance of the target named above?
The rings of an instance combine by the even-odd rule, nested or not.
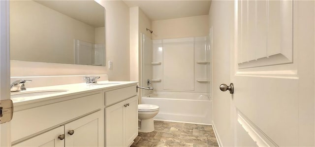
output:
[[[219,147],[211,125],[154,121],[155,131],[141,133],[131,147]]]

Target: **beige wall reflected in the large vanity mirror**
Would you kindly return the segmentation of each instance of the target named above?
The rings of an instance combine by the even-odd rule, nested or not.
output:
[[[95,28],[32,0],[10,1],[11,60],[74,64],[73,39],[94,43]]]

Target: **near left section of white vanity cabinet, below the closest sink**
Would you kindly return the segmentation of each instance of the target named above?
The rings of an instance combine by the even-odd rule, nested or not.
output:
[[[104,146],[102,90],[51,101],[18,107],[31,108],[14,112],[11,121],[13,147]]]

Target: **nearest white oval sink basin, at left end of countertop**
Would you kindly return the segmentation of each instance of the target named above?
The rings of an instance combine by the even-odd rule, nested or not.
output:
[[[51,90],[32,90],[32,91],[18,91],[11,92],[11,99],[13,98],[25,98],[25,97],[35,97],[35,96],[43,96],[49,94],[57,94],[61,92],[66,92],[68,90],[64,89],[51,89]]]

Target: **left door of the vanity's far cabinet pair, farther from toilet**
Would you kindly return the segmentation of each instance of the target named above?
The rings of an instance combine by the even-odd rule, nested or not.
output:
[[[126,147],[124,116],[126,101],[106,108],[106,147]]]

